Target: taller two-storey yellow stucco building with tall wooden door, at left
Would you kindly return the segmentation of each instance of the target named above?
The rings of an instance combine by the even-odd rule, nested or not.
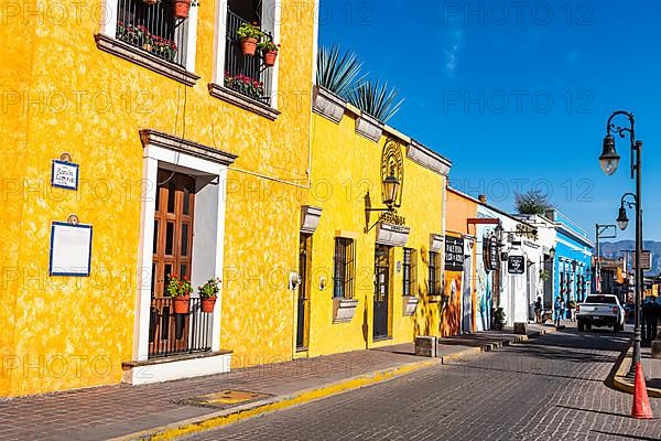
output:
[[[10,7],[0,396],[291,358],[315,2]],[[273,67],[241,53],[249,22]],[[174,314],[167,275],[221,278],[213,313]]]

